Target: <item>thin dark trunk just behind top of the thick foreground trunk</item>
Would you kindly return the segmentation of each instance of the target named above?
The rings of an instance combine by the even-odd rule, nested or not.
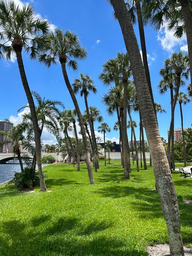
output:
[[[151,78],[150,78],[150,73],[149,73],[149,66],[148,66],[148,61],[147,61],[147,50],[146,50],[146,44],[145,44],[145,32],[144,32],[144,26],[143,26],[143,18],[142,18],[142,13],[141,13],[141,3],[139,1],[135,1],[135,6],[137,10],[137,20],[138,20],[138,26],[139,26],[139,36],[140,36],[140,43],[141,43],[141,51],[142,51],[142,57],[143,57],[143,66],[145,69],[145,76],[147,79],[147,85],[149,87],[149,92],[151,96],[151,101],[154,106],[154,111],[156,112],[155,109],[155,102],[154,102],[154,96],[153,96],[153,91],[151,87]]]

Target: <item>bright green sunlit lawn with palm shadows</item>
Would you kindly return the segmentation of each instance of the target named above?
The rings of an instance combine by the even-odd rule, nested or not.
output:
[[[176,166],[179,164],[176,164]],[[177,167],[178,167],[177,166]],[[13,185],[0,186],[1,256],[147,256],[148,244],[167,243],[167,228],[154,175],[136,172],[124,181],[119,161],[94,173],[89,185],[81,171],[68,164],[44,167],[50,193],[23,194]],[[173,173],[181,212],[183,242],[192,247],[192,180]]]

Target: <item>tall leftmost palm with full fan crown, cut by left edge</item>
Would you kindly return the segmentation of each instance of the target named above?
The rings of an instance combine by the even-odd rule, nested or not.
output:
[[[45,44],[42,40],[42,34],[46,35],[49,32],[49,25],[41,17],[36,19],[34,9],[29,4],[23,4],[22,7],[19,7],[13,1],[6,3],[1,0],[0,27],[2,28],[1,38],[4,39],[4,43],[1,45],[3,54],[7,59],[10,59],[12,55],[16,55],[17,58],[21,81],[31,111],[41,191],[47,191],[41,166],[41,139],[38,120],[21,52],[24,48],[26,52],[30,53],[30,58],[35,59],[38,50],[41,50],[42,45]]]

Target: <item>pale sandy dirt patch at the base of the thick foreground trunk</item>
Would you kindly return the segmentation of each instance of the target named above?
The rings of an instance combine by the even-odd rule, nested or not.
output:
[[[147,246],[149,256],[170,256],[168,244],[157,244]],[[184,246],[185,256],[192,256],[192,248]]]

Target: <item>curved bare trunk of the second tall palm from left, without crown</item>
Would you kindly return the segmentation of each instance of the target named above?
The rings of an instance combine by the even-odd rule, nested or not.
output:
[[[69,79],[68,79],[68,75],[67,75],[67,71],[66,71],[66,59],[61,58],[60,63],[61,63],[61,66],[62,66],[62,72],[63,72],[64,80],[65,80],[66,86],[68,88],[68,91],[70,93],[70,96],[73,100],[73,104],[75,106],[77,116],[78,116],[78,119],[79,119],[79,125],[81,127],[81,134],[82,134],[83,145],[84,145],[84,149],[85,149],[87,171],[88,171],[88,175],[89,175],[90,184],[94,184],[95,182],[94,182],[94,177],[93,177],[93,171],[92,171],[91,160],[90,160],[90,155],[89,155],[89,150],[88,150],[88,145],[87,145],[87,137],[86,137],[85,127],[84,127],[84,123],[83,123],[83,118],[81,116],[81,111],[79,109],[77,99],[75,97],[75,94],[73,92],[73,89],[72,89],[72,87],[70,85],[70,82],[69,82]]]

